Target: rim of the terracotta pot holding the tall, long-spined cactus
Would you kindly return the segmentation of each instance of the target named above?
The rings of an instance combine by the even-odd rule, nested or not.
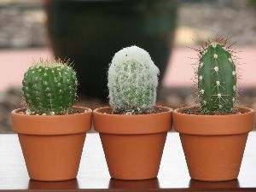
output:
[[[173,112],[173,128],[182,134],[190,135],[236,135],[253,131],[254,110],[238,107],[241,114],[197,115],[181,113],[184,109],[177,108]]]

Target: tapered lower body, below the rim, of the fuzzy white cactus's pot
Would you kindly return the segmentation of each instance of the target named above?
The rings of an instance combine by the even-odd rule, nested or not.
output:
[[[110,176],[120,180],[157,177],[167,133],[111,135],[100,133]]]

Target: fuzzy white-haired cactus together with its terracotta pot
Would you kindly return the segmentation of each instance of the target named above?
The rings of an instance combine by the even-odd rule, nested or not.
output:
[[[159,69],[144,49],[119,50],[108,70],[111,108],[93,112],[113,178],[157,177],[172,109],[155,107]]]

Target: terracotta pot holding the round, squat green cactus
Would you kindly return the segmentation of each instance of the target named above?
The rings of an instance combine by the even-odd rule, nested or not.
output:
[[[13,130],[20,145],[29,177],[40,181],[62,181],[77,177],[86,131],[91,126],[91,109],[86,113],[36,116],[12,111]]]

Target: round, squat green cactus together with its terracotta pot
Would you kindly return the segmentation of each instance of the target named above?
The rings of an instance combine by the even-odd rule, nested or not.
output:
[[[38,61],[22,81],[26,108],[11,113],[29,177],[61,181],[77,176],[91,110],[73,107],[78,81],[64,61]]]

